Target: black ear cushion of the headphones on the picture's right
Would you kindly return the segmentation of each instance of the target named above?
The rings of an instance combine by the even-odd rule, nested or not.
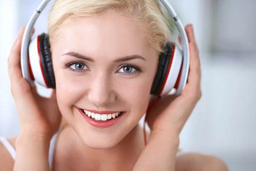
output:
[[[174,44],[167,43],[164,51],[159,56],[159,64],[157,67],[157,73],[154,77],[154,81],[151,87],[151,94],[159,95],[160,90],[163,87],[163,83],[166,78],[166,74],[169,69],[169,64],[172,58],[172,51],[173,51]]]

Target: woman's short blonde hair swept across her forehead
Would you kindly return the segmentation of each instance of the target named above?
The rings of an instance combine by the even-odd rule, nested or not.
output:
[[[48,18],[50,42],[58,37],[58,30],[65,20],[104,14],[107,10],[133,17],[138,28],[145,32],[152,48],[162,52],[172,40],[173,29],[157,0],[55,0]]]

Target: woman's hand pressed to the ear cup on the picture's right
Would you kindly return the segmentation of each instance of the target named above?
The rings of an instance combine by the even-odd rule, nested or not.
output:
[[[186,25],[189,40],[190,64],[188,82],[180,96],[165,95],[147,113],[151,134],[165,132],[179,136],[189,115],[201,98],[201,66],[199,50],[192,25]]]

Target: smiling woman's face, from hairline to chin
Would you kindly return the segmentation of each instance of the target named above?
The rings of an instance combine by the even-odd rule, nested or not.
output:
[[[158,53],[133,19],[110,11],[59,31],[51,46],[61,113],[91,148],[116,146],[147,109]]]

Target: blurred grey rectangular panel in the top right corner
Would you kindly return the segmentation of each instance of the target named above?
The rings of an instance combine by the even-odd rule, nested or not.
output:
[[[256,1],[215,0],[215,6],[214,50],[256,55]]]

